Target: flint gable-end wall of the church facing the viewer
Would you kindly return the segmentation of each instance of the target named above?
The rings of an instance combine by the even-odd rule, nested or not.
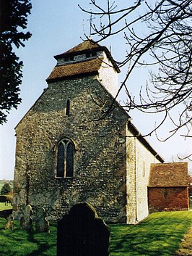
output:
[[[116,107],[98,120],[100,100],[108,105],[112,97],[92,77],[50,83],[17,125],[15,218],[30,204],[34,214],[44,207],[49,219],[58,220],[88,202],[106,222],[126,223],[127,115]],[[64,137],[77,149],[74,178],[56,178],[56,144]]]

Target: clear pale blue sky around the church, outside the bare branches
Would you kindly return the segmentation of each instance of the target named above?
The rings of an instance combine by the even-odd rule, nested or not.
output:
[[[103,0],[98,2],[100,1]],[[22,104],[17,110],[11,110],[7,123],[0,125],[0,179],[14,178],[16,146],[14,128],[43,93],[43,89],[47,88],[45,79],[56,65],[56,59],[53,56],[82,43],[84,30],[87,34],[90,30],[89,15],[78,7],[80,4],[89,9],[90,0],[32,0],[31,2],[32,13],[28,17],[27,30],[32,33],[32,37],[25,42],[24,48],[15,49],[17,56],[24,63],[20,87]],[[93,39],[97,40],[97,38]],[[126,54],[126,44],[121,36],[108,38],[100,44],[112,49],[114,59],[123,59]],[[119,85],[125,74],[126,68],[119,76]],[[134,91],[139,91],[141,83],[144,83],[147,78],[147,70],[135,70],[128,83]],[[125,94],[121,94],[119,101],[121,104],[126,101]],[[159,118],[156,115],[146,117],[135,111],[129,115],[142,134],[151,131]],[[169,124],[165,124],[160,130],[160,138],[165,137],[171,128]],[[165,142],[158,141],[156,136],[149,136],[146,139],[165,159],[165,162],[171,162],[177,159],[177,154],[188,154],[192,150],[189,139],[184,140],[180,133]]]

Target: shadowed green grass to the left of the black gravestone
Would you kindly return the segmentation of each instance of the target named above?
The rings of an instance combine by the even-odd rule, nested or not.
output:
[[[15,222],[14,230],[5,230],[6,220],[0,220],[0,255],[1,256],[56,256],[56,227],[51,233],[27,232],[19,229]]]

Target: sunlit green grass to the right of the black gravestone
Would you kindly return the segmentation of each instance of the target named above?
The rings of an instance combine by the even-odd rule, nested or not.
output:
[[[136,226],[112,226],[112,256],[174,255],[191,221],[192,212],[157,212]]]

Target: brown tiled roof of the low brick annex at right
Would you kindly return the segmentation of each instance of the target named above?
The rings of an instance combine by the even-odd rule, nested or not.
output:
[[[151,164],[149,187],[188,186],[188,163]]]

